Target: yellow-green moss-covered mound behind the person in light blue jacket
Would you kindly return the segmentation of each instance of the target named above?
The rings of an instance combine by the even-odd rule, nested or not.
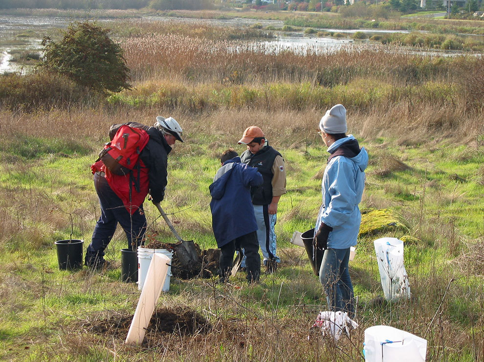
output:
[[[387,231],[408,232],[410,225],[401,214],[391,209],[364,209],[358,237],[376,235]]]

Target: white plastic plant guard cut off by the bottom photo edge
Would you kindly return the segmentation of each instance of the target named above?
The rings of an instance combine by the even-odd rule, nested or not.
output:
[[[390,326],[365,329],[365,362],[425,362],[427,340]]]

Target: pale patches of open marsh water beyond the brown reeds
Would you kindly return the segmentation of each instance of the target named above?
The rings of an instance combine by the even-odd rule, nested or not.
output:
[[[41,41],[45,35],[51,34],[55,28],[66,28],[69,23],[75,21],[82,21],[82,19],[70,19],[60,17],[45,17],[45,16],[7,16],[0,15],[0,74],[4,72],[18,71],[22,72],[28,67],[20,66],[12,62],[12,57],[15,52],[32,50],[34,52],[42,52]],[[117,21],[117,19],[101,19],[98,23],[106,23]],[[157,16],[144,16],[142,21],[159,21],[159,22],[183,22],[183,23],[198,23],[215,26],[233,26],[244,27],[260,24],[262,27],[273,26],[274,28],[281,28],[284,22],[277,20],[258,20],[258,19],[191,19],[191,18],[167,18]],[[338,32],[338,33],[354,33],[362,31],[367,36],[382,33],[408,33],[406,30],[381,30],[381,29],[315,29],[323,32]],[[331,38],[331,37],[316,37],[314,35],[305,35],[301,32],[281,32],[274,31],[275,38],[271,40],[254,40],[250,41],[251,47],[256,51],[264,51],[271,53],[278,53],[281,51],[293,51],[298,54],[311,53],[328,53],[337,51],[342,47],[380,47],[379,43],[369,43],[366,41],[354,41],[348,38]],[[25,34],[25,37],[19,37],[19,34]],[[237,49],[237,47],[234,47]],[[418,49],[404,49],[403,51],[425,54],[425,55],[440,55],[452,56],[462,54],[459,51],[439,51],[439,50],[418,50]]]

